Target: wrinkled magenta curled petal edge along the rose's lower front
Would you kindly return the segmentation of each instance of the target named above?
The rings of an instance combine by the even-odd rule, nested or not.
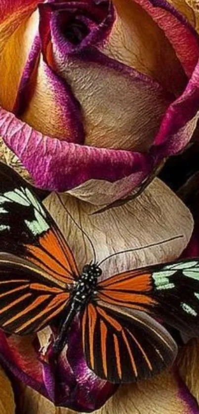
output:
[[[151,166],[147,155],[52,139],[3,109],[0,110],[0,135],[21,159],[36,185],[50,190],[65,191],[91,178],[115,181],[129,174],[133,174],[133,187],[148,174]]]

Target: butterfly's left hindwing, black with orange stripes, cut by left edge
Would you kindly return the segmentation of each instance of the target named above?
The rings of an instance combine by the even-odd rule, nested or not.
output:
[[[0,328],[22,335],[44,328],[67,305],[62,285],[31,262],[0,253]]]

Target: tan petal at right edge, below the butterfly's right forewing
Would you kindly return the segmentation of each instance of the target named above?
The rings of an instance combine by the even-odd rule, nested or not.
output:
[[[199,339],[191,339],[178,357],[180,374],[199,403]]]

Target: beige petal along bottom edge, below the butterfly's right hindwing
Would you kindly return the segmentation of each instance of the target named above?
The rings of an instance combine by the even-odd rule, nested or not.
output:
[[[107,413],[198,414],[199,408],[177,374],[163,373],[138,384],[122,386],[106,404]]]

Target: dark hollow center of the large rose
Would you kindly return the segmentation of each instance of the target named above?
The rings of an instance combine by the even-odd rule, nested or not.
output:
[[[73,44],[80,44],[88,35],[89,29],[85,23],[75,18],[70,19],[65,27],[62,27],[64,37]]]

